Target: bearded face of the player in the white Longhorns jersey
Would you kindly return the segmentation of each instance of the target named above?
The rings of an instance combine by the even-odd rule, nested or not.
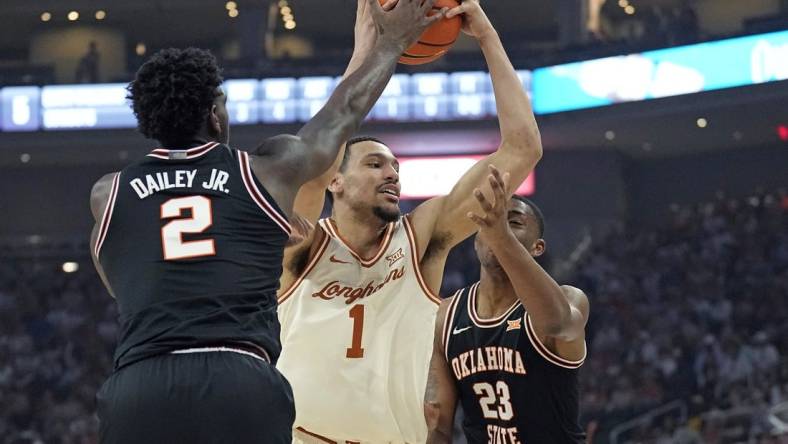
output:
[[[356,143],[338,177],[340,192],[335,198],[351,208],[372,211],[385,222],[399,219],[399,162],[387,146],[373,141]]]

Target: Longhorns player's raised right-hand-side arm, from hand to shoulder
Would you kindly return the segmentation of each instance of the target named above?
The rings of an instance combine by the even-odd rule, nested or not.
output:
[[[489,193],[489,185],[486,184],[488,165],[495,164],[511,175],[513,189],[507,191],[512,192],[528,177],[542,156],[541,138],[530,100],[498,33],[478,0],[465,0],[461,6],[450,10],[447,17],[457,14],[463,14],[463,31],[476,37],[487,61],[498,109],[501,144],[496,152],[465,173],[449,195],[431,199],[413,212],[412,221],[417,237],[444,239],[444,250],[475,231],[476,227],[465,214],[478,209],[478,203],[472,195],[474,188],[482,187],[485,193]],[[425,244],[420,244],[422,257],[427,248]]]

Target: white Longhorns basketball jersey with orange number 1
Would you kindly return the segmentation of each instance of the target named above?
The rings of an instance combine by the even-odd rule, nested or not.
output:
[[[427,288],[407,217],[378,253],[356,254],[323,219],[317,254],[279,298],[295,426],[334,441],[420,443],[440,300]],[[319,237],[317,237],[319,239]]]

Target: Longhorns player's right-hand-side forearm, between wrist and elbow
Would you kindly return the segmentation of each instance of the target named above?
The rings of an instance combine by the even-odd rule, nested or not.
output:
[[[522,147],[541,157],[542,143],[531,101],[494,28],[479,37],[492,78],[502,147]]]

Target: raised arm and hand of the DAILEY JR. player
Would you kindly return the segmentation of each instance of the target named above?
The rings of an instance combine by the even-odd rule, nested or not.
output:
[[[400,1],[390,11],[378,0],[366,2],[377,30],[370,56],[295,136],[272,137],[253,153],[255,174],[288,214],[301,185],[323,174],[335,162],[342,142],[358,130],[394,73],[402,51],[443,17],[442,13],[427,17],[434,0],[423,4]]]

